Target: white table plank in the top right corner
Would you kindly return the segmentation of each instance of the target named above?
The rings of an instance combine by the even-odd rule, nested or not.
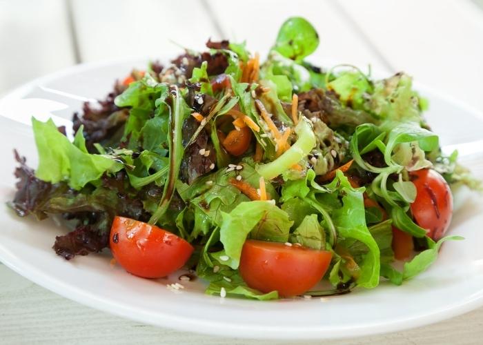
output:
[[[483,110],[483,11],[469,0],[340,1],[397,70]]]

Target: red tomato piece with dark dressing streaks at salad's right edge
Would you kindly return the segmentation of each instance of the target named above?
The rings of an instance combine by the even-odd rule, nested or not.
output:
[[[443,177],[431,169],[411,172],[416,186],[416,199],[411,212],[416,223],[435,241],[443,237],[453,216],[453,195]]]

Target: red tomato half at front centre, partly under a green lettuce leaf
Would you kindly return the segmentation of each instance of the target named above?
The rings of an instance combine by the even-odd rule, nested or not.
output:
[[[319,282],[331,264],[332,253],[282,243],[246,240],[240,275],[250,288],[277,290],[282,297],[302,295]]]

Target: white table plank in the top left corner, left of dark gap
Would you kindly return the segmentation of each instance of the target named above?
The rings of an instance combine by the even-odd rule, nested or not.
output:
[[[74,64],[65,1],[0,1],[0,50],[0,93]]]

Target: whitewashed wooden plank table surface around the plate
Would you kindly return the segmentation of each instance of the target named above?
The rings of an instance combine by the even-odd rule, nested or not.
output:
[[[482,6],[483,0],[0,0],[0,94],[76,63],[202,49],[208,37],[246,39],[263,55],[284,19],[301,15],[320,34],[318,56],[405,70],[483,112]],[[480,308],[431,326],[324,344],[481,344],[482,338]],[[276,344],[121,319],[0,263],[0,344],[39,343]]]

